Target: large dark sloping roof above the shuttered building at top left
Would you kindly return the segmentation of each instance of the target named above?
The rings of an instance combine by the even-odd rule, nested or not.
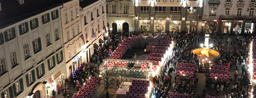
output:
[[[24,0],[19,4],[17,0],[0,0],[0,29],[40,14],[71,0]],[[89,1],[89,0],[88,0]]]

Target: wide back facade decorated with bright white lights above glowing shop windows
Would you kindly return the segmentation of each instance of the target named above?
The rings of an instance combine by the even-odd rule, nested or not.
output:
[[[135,33],[199,33],[203,3],[203,0],[135,0]]]

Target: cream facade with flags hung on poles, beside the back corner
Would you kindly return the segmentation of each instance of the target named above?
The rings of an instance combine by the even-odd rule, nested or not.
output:
[[[83,61],[88,62],[94,51],[104,44],[104,39],[108,38],[107,15],[105,0],[91,0],[88,4],[86,0],[80,1],[81,7],[81,27],[85,37],[85,46],[82,50]],[[104,38],[105,37],[105,38]]]

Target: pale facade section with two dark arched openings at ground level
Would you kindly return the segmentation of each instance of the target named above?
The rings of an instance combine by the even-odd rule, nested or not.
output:
[[[107,26],[112,33],[123,31],[128,34],[134,31],[135,0],[106,0]]]

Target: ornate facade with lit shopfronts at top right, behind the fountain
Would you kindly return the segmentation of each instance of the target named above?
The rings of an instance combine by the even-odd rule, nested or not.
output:
[[[255,0],[205,0],[201,31],[209,33],[253,32]]]

